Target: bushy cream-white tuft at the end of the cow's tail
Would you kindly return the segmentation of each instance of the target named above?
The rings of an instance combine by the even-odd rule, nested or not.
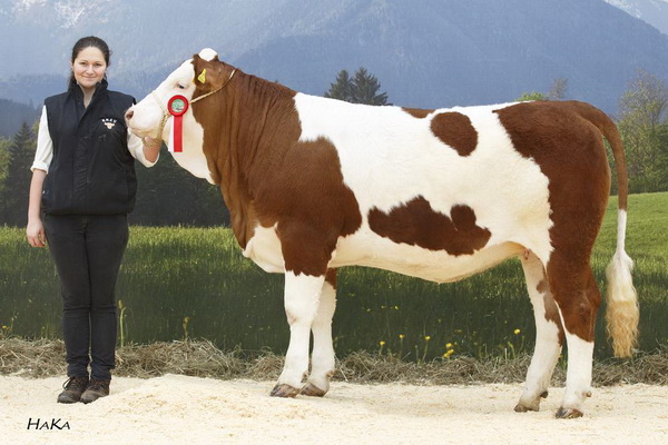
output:
[[[639,309],[638,295],[631,277],[632,269],[633,260],[626,254],[623,246],[618,245],[606,269],[606,320],[616,357],[630,357],[638,342]]]

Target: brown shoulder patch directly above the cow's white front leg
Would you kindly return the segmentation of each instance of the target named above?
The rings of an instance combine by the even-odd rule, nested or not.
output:
[[[274,167],[273,187],[256,200],[264,218],[278,222],[285,268],[322,276],[338,237],[362,226],[360,206],[344,184],[336,148],[327,139],[295,142]]]

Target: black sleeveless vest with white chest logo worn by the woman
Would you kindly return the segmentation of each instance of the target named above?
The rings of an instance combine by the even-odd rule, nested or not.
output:
[[[135,99],[98,83],[87,108],[72,82],[45,100],[53,159],[42,190],[52,215],[119,215],[135,207],[135,158],[128,151],[125,112]]]

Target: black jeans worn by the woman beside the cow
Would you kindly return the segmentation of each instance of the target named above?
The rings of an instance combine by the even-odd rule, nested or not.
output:
[[[111,378],[114,288],[128,244],[127,215],[47,215],[45,231],[60,277],[67,375]],[[90,353],[90,356],[89,356]]]

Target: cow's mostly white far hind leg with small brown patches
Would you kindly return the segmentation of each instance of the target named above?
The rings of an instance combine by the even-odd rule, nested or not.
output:
[[[527,372],[527,383],[515,406],[518,413],[538,411],[541,397],[547,397],[552,372],[563,344],[559,310],[550,293],[542,261],[531,250],[522,257],[527,289],[536,319],[536,348]]]

